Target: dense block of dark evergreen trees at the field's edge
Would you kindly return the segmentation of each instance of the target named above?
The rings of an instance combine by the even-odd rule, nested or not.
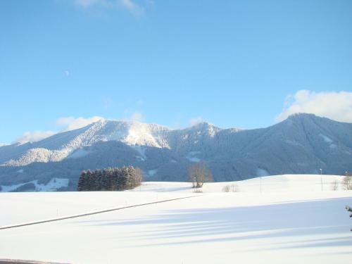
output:
[[[77,191],[123,191],[142,182],[142,170],[132,166],[84,170],[78,180]]]

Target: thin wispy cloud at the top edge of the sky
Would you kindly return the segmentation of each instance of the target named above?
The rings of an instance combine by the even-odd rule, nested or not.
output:
[[[89,8],[92,6],[102,6],[104,8],[118,8],[122,7],[127,9],[133,15],[142,15],[144,8],[136,4],[132,0],[74,0],[77,6]]]

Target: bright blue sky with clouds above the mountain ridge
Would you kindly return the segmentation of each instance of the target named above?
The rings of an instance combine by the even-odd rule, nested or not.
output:
[[[352,122],[351,47],[349,0],[0,1],[0,142],[94,116]]]

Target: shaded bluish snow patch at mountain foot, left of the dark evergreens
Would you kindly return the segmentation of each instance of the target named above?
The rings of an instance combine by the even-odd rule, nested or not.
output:
[[[24,182],[22,184],[13,184],[13,185],[1,185],[1,191],[15,191],[18,187],[21,187],[25,184],[34,184],[35,191],[56,191],[61,187],[68,187],[70,180],[62,178],[52,178],[47,184],[39,184],[38,180],[33,180],[31,182]]]

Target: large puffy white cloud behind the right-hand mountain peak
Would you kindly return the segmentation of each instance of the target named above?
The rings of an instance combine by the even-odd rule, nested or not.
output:
[[[293,113],[313,113],[340,122],[352,122],[352,92],[311,92],[300,90],[287,96],[284,110],[275,120]]]

